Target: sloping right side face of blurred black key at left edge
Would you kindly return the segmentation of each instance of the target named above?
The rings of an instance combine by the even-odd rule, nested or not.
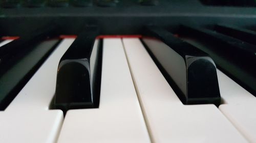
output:
[[[0,76],[1,110],[4,110],[19,91],[22,90],[27,81],[54,50],[58,42],[58,39],[46,39],[38,44],[31,45],[33,49],[22,52],[23,55],[16,55],[16,57],[19,56],[20,58],[17,58],[15,61],[9,61],[9,64],[13,66],[1,65],[3,69],[6,68],[4,71],[0,70],[2,72]]]

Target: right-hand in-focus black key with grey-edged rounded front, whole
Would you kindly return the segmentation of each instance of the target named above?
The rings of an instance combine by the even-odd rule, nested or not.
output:
[[[221,98],[214,62],[205,52],[158,27],[148,27],[146,49],[183,104],[215,104]]]

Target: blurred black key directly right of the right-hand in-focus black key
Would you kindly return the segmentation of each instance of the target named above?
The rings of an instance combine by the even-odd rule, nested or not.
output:
[[[181,26],[181,33],[197,38],[217,66],[243,88],[256,96],[256,46],[205,28]]]

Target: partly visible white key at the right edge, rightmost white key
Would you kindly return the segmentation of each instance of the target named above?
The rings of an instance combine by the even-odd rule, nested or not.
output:
[[[219,109],[249,140],[256,142],[256,97],[221,71],[217,71],[222,105]]]

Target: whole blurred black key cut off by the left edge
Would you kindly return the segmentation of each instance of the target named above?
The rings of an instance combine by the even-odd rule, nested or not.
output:
[[[21,37],[0,48],[6,54],[2,54],[4,59],[0,63],[0,110],[9,105],[59,42],[45,34],[28,37]]]

